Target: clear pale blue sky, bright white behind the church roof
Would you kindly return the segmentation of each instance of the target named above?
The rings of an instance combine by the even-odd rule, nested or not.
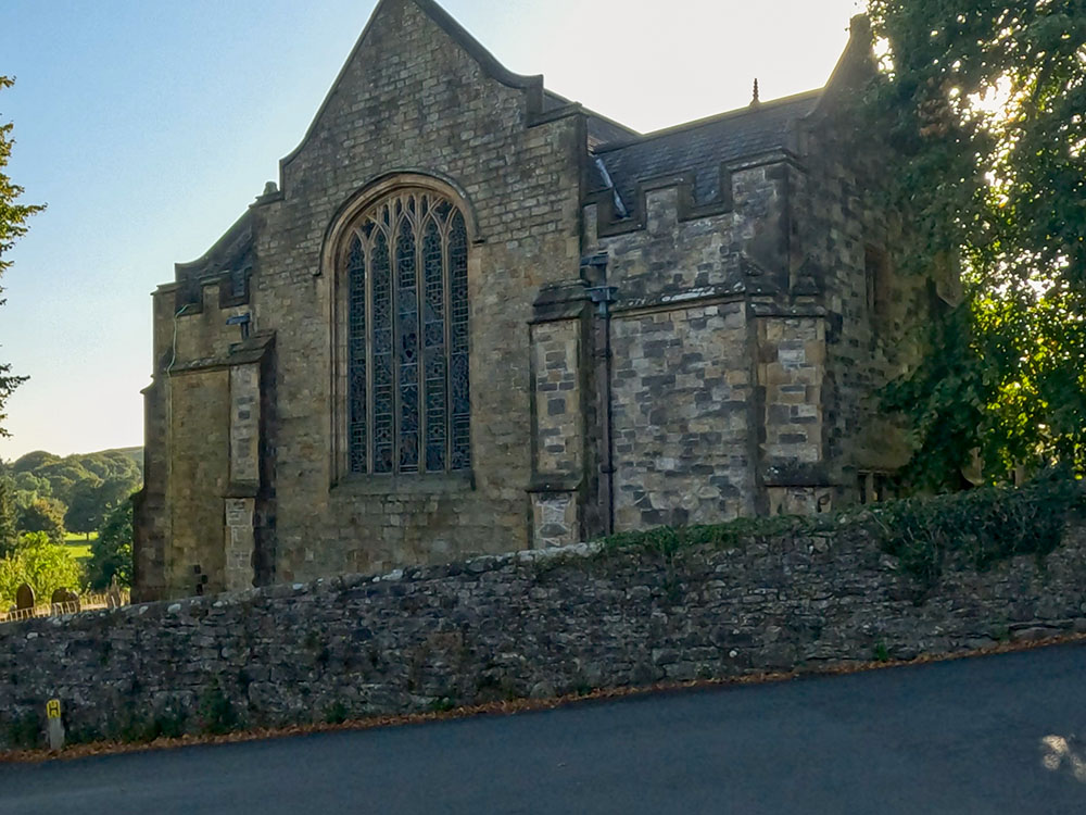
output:
[[[277,179],[375,0],[3,0],[11,252],[0,457],[142,443],[149,293]],[[641,130],[823,84],[858,0],[445,0],[503,63]]]

